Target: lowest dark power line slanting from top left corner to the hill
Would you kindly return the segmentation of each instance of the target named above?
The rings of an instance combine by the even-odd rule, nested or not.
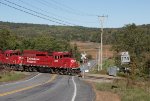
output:
[[[51,19],[48,19],[48,18],[39,16],[39,15],[36,15],[36,14],[30,13],[30,12],[28,12],[28,11],[24,11],[24,10],[22,10],[22,9],[16,8],[16,7],[14,7],[14,6],[11,6],[11,5],[9,5],[9,4],[3,3],[3,2],[1,2],[1,1],[0,1],[0,3],[3,4],[3,5],[5,5],[5,6],[7,6],[7,7],[16,9],[16,10],[21,11],[21,12],[24,12],[24,13],[27,13],[27,14],[29,14],[29,15],[32,15],[32,16],[35,16],[35,17],[38,17],[38,18],[41,18],[41,19],[44,19],[44,20],[48,20],[48,21],[50,21],[50,22],[54,22],[54,23],[57,23],[57,24],[60,24],[60,25],[68,26],[68,25],[66,25],[66,24],[64,24],[64,23],[60,23],[60,22],[57,22],[57,21],[53,21],[53,20],[51,20]]]

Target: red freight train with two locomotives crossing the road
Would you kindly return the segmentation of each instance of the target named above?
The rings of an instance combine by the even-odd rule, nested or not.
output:
[[[79,64],[71,52],[0,50],[0,64],[1,68],[19,71],[80,74]]]

